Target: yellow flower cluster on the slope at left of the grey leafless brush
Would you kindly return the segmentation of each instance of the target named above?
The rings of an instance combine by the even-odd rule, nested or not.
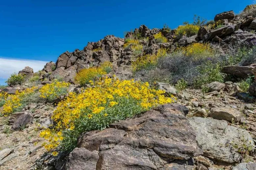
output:
[[[166,57],[167,50],[165,48],[160,48],[156,55],[144,55],[142,57],[138,57],[136,61],[132,62],[133,71],[139,71],[141,69],[145,69],[151,66],[155,66],[157,64],[157,60],[160,57]]]

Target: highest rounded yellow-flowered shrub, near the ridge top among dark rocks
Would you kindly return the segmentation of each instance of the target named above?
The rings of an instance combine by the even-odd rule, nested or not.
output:
[[[187,24],[181,25],[177,28],[175,35],[177,38],[181,38],[182,36],[186,35],[187,37],[191,37],[198,33],[200,26]]]

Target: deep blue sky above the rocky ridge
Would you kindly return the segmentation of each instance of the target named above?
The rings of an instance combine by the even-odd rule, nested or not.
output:
[[[0,66],[3,58],[17,60],[20,67],[26,66],[27,60],[56,61],[66,50],[83,49],[88,42],[109,34],[123,37],[124,31],[141,24],[162,28],[166,23],[176,28],[184,21],[192,21],[194,14],[211,20],[223,11],[239,13],[252,3],[253,0],[233,0],[232,3],[223,0],[3,1],[0,4]],[[35,66],[34,69],[41,68]],[[0,84],[3,84],[10,73],[5,72],[3,77],[1,71],[0,67]]]

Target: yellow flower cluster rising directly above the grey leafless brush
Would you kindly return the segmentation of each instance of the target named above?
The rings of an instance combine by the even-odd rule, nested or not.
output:
[[[199,59],[203,57],[211,57],[214,54],[214,50],[210,47],[209,43],[194,43],[187,47],[177,48],[182,53],[193,59]]]

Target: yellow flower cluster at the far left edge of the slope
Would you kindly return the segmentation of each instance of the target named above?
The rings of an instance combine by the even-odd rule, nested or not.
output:
[[[17,91],[14,95],[9,95],[8,100],[5,101],[5,104],[3,105],[2,114],[4,116],[8,116],[14,112],[15,109],[20,107],[22,98],[26,95],[29,95],[31,93],[34,93],[35,89],[37,87],[31,87],[23,90],[22,92]]]

